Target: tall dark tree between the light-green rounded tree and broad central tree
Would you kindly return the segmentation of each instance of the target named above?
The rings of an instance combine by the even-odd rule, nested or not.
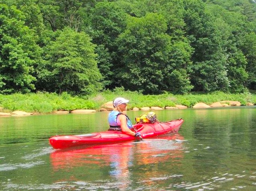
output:
[[[115,2],[99,2],[91,10],[90,27],[93,43],[97,44],[98,68],[105,88],[114,88],[114,70],[119,63],[116,39],[126,26],[126,13]]]

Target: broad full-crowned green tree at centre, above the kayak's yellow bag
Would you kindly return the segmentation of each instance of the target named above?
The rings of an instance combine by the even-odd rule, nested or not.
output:
[[[166,20],[156,13],[129,19],[126,31],[118,38],[118,53],[122,57],[120,68],[115,73],[116,81],[120,80],[120,85],[149,94],[173,90],[174,85],[170,83],[173,82],[170,79],[173,75],[170,73],[177,67],[185,67],[186,58],[184,59],[183,53],[186,51],[177,50],[181,46],[171,43],[171,37],[165,33],[166,30]],[[172,62],[178,56],[181,59],[180,64]],[[180,85],[182,86],[184,84]]]

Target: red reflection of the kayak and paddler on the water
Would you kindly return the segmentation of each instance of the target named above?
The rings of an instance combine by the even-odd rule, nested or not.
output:
[[[153,164],[181,161],[184,157],[183,139],[175,134],[161,139],[56,150],[50,154],[50,161],[55,173],[62,170],[73,172],[79,167],[90,171],[90,166],[94,166],[94,170],[102,169],[102,172],[107,169],[103,173],[108,173],[109,178],[119,185],[118,188],[125,190],[132,184],[132,177],[140,173],[136,169],[141,169],[144,173],[140,176],[147,179],[152,174],[156,176],[160,173],[157,169],[150,169]]]

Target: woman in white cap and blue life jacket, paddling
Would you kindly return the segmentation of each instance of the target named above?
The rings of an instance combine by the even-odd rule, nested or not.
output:
[[[129,100],[118,97],[113,101],[114,110],[108,115],[109,129],[108,131],[122,131],[128,135],[141,137],[139,132],[133,132],[131,129],[132,122],[129,117],[123,113]]]

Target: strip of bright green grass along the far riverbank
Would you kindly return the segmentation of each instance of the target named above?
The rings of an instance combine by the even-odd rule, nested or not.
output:
[[[114,100],[116,97],[124,97],[130,100],[127,109],[133,107],[166,107],[175,106],[175,104],[192,107],[196,103],[204,102],[211,104],[217,101],[240,101],[241,105],[247,102],[256,103],[256,94],[227,94],[223,92],[214,92],[209,94],[191,93],[186,95],[174,95],[164,93],[160,95],[143,95],[138,92],[124,91],[123,88],[116,88],[114,91],[103,91],[96,95],[71,96],[67,93],[61,95],[55,93],[28,93],[28,94],[0,94],[0,112],[12,112],[22,110],[31,113],[52,113],[58,110],[72,111],[75,109],[94,109]]]

